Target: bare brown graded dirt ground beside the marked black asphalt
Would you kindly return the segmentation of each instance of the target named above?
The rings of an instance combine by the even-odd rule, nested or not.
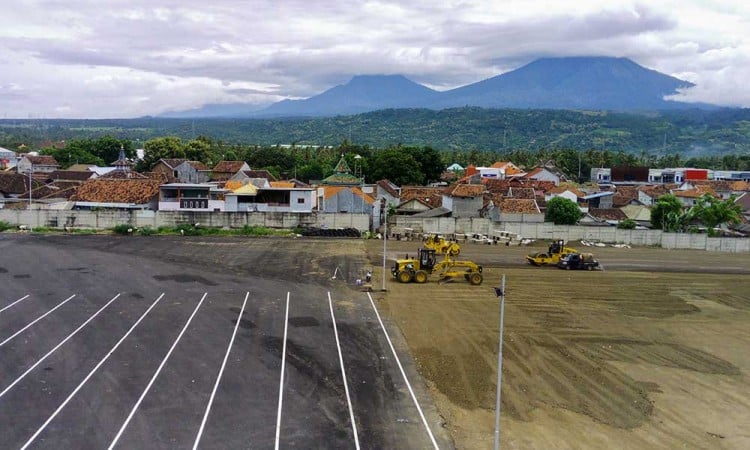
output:
[[[750,448],[750,256],[572,244],[605,270],[526,265],[546,243],[464,244],[483,285],[377,292],[456,447],[493,445],[504,274],[503,448]],[[388,266],[418,246],[389,242]],[[379,287],[382,241],[366,248]]]

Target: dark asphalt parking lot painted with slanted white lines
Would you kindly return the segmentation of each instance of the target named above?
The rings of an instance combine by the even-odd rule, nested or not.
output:
[[[452,446],[367,293],[68,239],[0,235],[0,447]]]

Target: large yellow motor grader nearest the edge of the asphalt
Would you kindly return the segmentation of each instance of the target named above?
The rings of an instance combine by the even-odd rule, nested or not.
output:
[[[432,248],[420,248],[416,258],[397,259],[391,274],[401,283],[426,283],[430,275],[440,275],[438,282],[446,282],[463,276],[473,285],[482,284],[482,266],[472,261],[458,261],[446,253],[442,261],[437,260]]]

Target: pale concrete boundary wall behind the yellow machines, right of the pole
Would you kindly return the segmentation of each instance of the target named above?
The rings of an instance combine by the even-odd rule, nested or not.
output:
[[[616,227],[586,227],[555,225],[550,222],[492,222],[482,218],[456,219],[390,218],[388,229],[403,233],[404,228],[417,233],[478,233],[490,235],[492,231],[511,231],[531,239],[564,239],[565,241],[599,241],[630,245],[652,245],[669,249],[694,249],[722,252],[750,252],[750,238],[711,238],[705,234],[664,233],[661,230],[620,230]]]

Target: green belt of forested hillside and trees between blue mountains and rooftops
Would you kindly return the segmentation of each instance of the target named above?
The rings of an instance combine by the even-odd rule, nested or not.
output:
[[[120,146],[129,157],[143,148],[141,171],[160,158],[208,167],[243,160],[304,182],[331,175],[343,154],[365,182],[401,185],[436,181],[453,163],[499,160],[526,168],[552,161],[578,181],[588,180],[592,168],[620,165],[750,170],[749,130],[750,109],[402,109],[319,119],[0,120],[0,146],[53,155],[63,168],[110,164]]]

